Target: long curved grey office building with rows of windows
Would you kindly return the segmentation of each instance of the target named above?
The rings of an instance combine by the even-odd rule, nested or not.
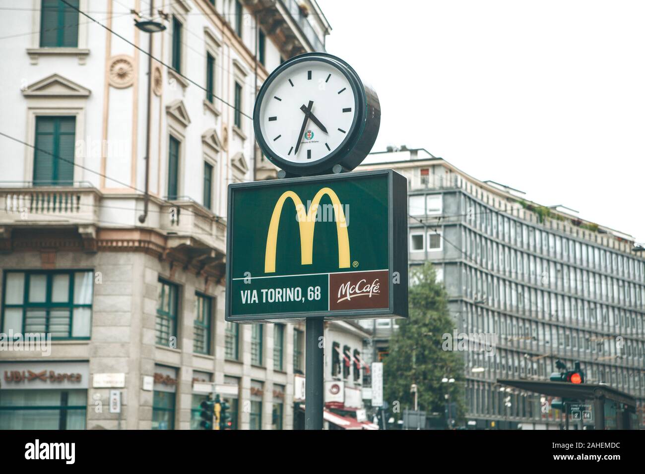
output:
[[[557,428],[562,415],[548,397],[497,380],[548,380],[558,359],[571,369],[579,360],[585,382],[629,393],[642,410],[645,259],[633,238],[526,202],[430,153],[388,154],[408,159],[362,169],[408,178],[410,265],[433,262],[459,333],[494,342],[488,353],[462,353],[471,425]]]

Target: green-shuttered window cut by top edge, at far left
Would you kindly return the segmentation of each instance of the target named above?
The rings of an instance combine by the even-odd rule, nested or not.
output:
[[[66,0],[79,8],[79,0]],[[41,2],[41,48],[76,48],[79,39],[79,12],[61,0]]]

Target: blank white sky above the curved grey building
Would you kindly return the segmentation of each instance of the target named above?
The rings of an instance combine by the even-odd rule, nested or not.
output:
[[[645,2],[317,1],[379,94],[373,151],[426,148],[645,242]]]

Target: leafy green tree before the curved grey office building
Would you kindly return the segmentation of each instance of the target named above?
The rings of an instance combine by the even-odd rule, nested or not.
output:
[[[385,399],[390,404],[399,401],[401,410],[413,410],[410,386],[417,384],[419,410],[444,413],[449,393],[461,420],[463,360],[456,351],[442,349],[442,335],[452,337],[456,327],[448,313],[448,295],[430,262],[411,269],[410,281],[409,317],[400,320],[390,339],[390,355],[383,361]],[[452,377],[455,383],[441,382],[444,377]]]

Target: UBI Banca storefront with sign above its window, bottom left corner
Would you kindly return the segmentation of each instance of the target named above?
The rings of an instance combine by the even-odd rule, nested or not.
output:
[[[0,430],[84,430],[88,362],[0,362]]]

